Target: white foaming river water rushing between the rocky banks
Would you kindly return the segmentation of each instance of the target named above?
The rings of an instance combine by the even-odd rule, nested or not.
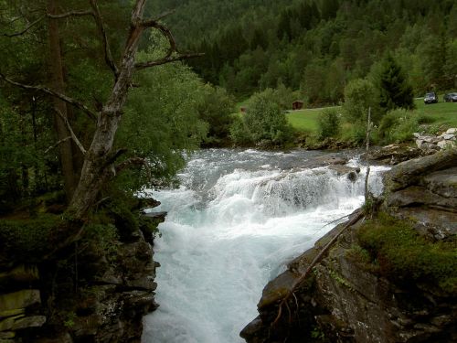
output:
[[[356,182],[306,169],[316,155],[204,150],[180,188],[154,191],[168,215],[154,245],[160,307],[144,318],[143,343],[244,341],[265,284],[363,202],[365,169]],[[375,194],[387,169],[371,169]]]

